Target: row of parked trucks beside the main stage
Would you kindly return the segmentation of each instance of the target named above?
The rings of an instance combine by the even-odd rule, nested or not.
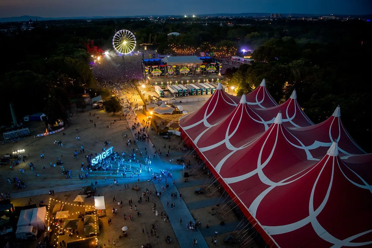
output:
[[[175,96],[202,96],[210,95],[216,91],[217,85],[214,83],[195,83],[195,84],[168,84],[167,90]],[[222,88],[227,92],[228,88],[222,85]],[[155,86],[155,92],[164,97],[164,90],[160,86]]]

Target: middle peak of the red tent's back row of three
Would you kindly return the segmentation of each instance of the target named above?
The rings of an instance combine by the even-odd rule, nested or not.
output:
[[[314,123],[309,119],[309,117],[305,115],[304,111],[299,106],[295,90],[293,91],[291,97],[289,97],[289,99],[286,100],[285,103],[267,109],[257,109],[257,113],[268,124],[273,122],[276,113],[278,113],[279,111],[282,112],[283,123],[286,127],[314,125]]]

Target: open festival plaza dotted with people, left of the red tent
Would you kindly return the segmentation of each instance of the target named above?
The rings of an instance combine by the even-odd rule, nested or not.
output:
[[[133,106],[143,104],[134,89],[121,97]],[[193,112],[204,103],[180,104]],[[141,124],[133,129],[137,122]],[[47,208],[45,232],[49,233],[52,247],[64,247],[64,242],[67,247],[79,244],[192,247],[195,241],[198,247],[214,247],[222,245],[226,238],[234,242],[231,234],[251,236],[252,229],[248,228],[244,216],[205,165],[195,159],[195,153],[183,146],[179,136],[163,139],[146,122],[147,116],[141,110],[125,107],[116,115],[90,107],[82,113],[73,109],[68,127],[63,131],[1,146],[3,154],[25,149],[25,162],[13,166],[12,170],[9,165],[0,167],[1,191],[4,196],[9,193],[18,215],[20,209]],[[42,123],[32,123],[31,132],[42,132],[42,126]],[[141,128],[148,133],[148,140],[135,143],[134,135]],[[111,146],[117,154],[107,152],[106,161],[110,165],[87,170],[86,156],[93,158],[103,151],[106,154]],[[121,160],[123,154],[124,161]],[[116,159],[111,160],[115,156]],[[132,159],[128,160],[129,157]],[[189,165],[184,167],[177,162],[180,158]],[[190,177],[184,177],[185,173]],[[154,179],[154,175],[158,179]],[[15,181],[22,181],[24,187],[16,189]],[[88,186],[94,192],[86,191]],[[87,197],[81,202],[74,201],[80,195]],[[98,196],[104,197],[104,212],[102,207],[95,206]],[[61,216],[63,213],[65,216]],[[94,222],[89,222],[89,216]],[[256,247],[256,239],[247,241],[250,241],[249,247]],[[31,242],[36,247],[47,241],[39,232],[37,240]]]

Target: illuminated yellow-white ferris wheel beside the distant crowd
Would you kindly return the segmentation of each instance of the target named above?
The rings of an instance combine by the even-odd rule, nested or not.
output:
[[[136,47],[136,38],[129,30],[120,30],[112,38],[112,46],[119,54],[129,54]]]

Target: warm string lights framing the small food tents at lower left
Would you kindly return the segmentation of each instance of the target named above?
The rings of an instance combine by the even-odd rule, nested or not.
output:
[[[65,204],[65,205],[70,205],[70,206],[77,206],[77,207],[84,207],[84,212],[89,212],[89,211],[92,211],[92,210],[95,210],[95,207],[94,206],[90,206],[90,205],[85,205],[85,204],[76,204],[76,203],[69,203],[69,202],[63,202],[61,200],[58,200],[58,199],[54,199],[52,197],[49,197],[49,203],[48,203],[48,211],[47,211],[47,217],[45,218],[45,220],[48,221],[48,230],[53,226],[54,228],[57,228],[57,225],[55,224],[55,222],[53,220],[55,220],[56,218],[55,217],[52,217],[51,215],[49,215],[49,210],[50,210],[50,206],[52,203],[55,203],[55,204],[58,204],[58,203],[61,203],[61,204]],[[68,212],[68,216],[70,216],[70,211]],[[75,212],[76,214],[79,214],[80,212]],[[92,216],[91,216],[92,217]],[[95,229],[95,234],[96,234],[96,245],[98,245],[98,238],[97,238],[97,227],[98,227],[98,217],[96,218],[96,216],[92,217],[94,219],[94,229]],[[52,222],[52,223],[51,223]],[[57,230],[58,231],[58,230]],[[67,231],[67,229],[64,229],[63,231]],[[58,233],[58,232],[57,232]],[[59,238],[60,235],[57,235],[55,238],[54,238],[54,245],[53,247],[58,247],[58,238]],[[79,239],[87,239],[83,236],[77,236],[77,238]],[[57,243],[55,242],[57,241]],[[92,243],[94,244],[94,242]]]

